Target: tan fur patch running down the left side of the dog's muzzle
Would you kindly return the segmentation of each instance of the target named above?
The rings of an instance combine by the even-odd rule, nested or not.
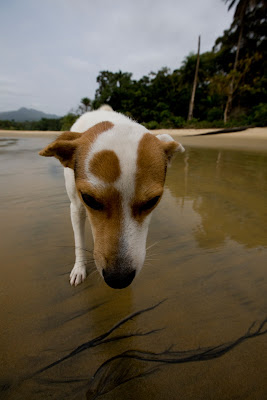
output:
[[[95,188],[88,181],[77,179],[76,187],[80,196],[86,193],[103,204],[101,211],[88,207],[89,218],[94,232],[94,257],[101,268],[112,269],[115,267],[118,257],[119,240],[122,226],[122,198],[121,194],[114,187]]]

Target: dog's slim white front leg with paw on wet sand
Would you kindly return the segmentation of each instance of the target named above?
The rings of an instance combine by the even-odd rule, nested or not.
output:
[[[70,273],[70,284],[79,285],[86,278],[85,219],[86,211],[75,187],[74,172],[64,168],[65,184],[70,199],[70,216],[75,242],[75,264]]]

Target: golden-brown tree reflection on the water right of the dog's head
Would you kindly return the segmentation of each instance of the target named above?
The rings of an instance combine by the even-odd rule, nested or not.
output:
[[[193,200],[201,217],[193,232],[199,246],[214,248],[232,239],[255,247],[266,245],[266,172],[264,154],[187,149],[175,160],[167,185],[182,204]]]

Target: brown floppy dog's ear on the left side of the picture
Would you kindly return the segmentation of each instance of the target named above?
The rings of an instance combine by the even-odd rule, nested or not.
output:
[[[64,132],[39,152],[40,156],[56,157],[64,167],[74,169],[74,155],[82,133]]]

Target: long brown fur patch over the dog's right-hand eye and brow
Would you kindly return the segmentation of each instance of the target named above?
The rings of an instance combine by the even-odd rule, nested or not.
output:
[[[156,206],[141,211],[142,205],[163,193],[166,163],[162,143],[150,133],[146,133],[138,146],[135,197],[132,202],[132,215],[139,223],[142,223]]]

